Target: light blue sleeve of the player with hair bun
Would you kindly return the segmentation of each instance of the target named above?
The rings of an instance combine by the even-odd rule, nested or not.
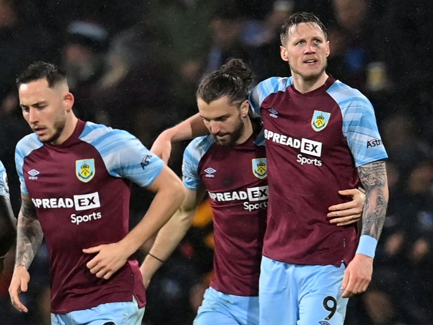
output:
[[[215,139],[212,135],[205,135],[195,138],[185,148],[182,162],[182,179],[187,189],[197,191],[203,187],[198,174],[198,164],[214,143]]]

